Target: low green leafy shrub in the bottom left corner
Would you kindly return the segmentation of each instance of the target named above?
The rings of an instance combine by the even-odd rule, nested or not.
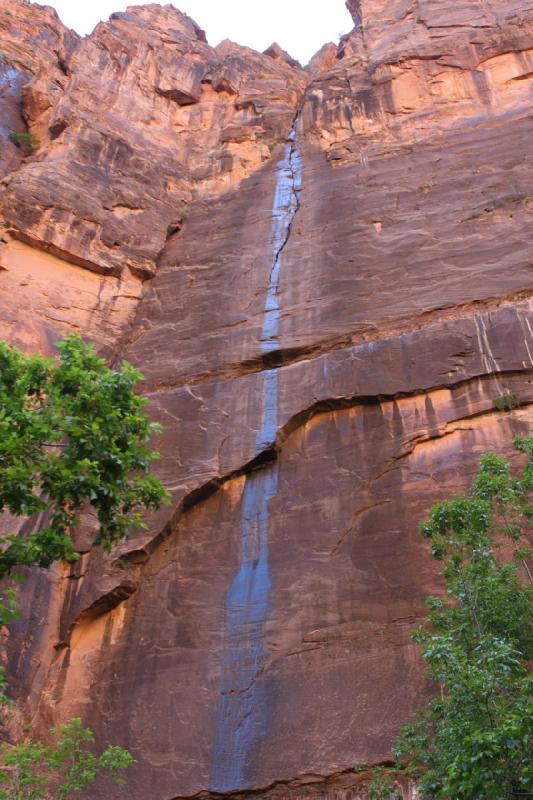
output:
[[[122,772],[134,763],[127,750],[109,745],[96,755],[93,733],[77,717],[51,733],[52,746],[28,740],[3,747],[0,800],[68,800],[101,774],[124,783]]]

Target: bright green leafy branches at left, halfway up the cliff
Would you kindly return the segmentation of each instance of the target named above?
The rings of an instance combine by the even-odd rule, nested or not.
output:
[[[0,577],[75,559],[71,531],[89,506],[109,549],[166,499],[149,474],[160,428],[134,391],[141,374],[110,369],[76,335],[58,349],[59,363],[0,342],[0,510],[40,515],[31,533],[0,539]]]

